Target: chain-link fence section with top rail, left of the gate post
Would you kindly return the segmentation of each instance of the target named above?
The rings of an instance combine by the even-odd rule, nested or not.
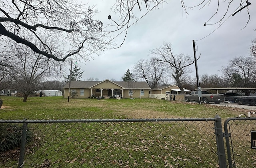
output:
[[[220,118],[0,120],[10,123],[23,126],[19,167],[226,166]],[[0,167],[14,158],[2,155]]]

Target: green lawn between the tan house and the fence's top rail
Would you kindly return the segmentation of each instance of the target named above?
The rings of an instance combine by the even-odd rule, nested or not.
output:
[[[71,99],[62,97],[22,98],[4,96],[0,119],[105,119],[105,118],[221,118],[238,116],[249,110],[210,104],[158,99]],[[251,111],[251,110],[250,110]]]

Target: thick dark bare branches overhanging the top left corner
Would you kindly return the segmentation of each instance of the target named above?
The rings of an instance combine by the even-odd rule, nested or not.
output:
[[[89,60],[91,53],[108,44],[102,22],[92,19],[96,12],[75,0],[3,0],[0,38],[12,39],[57,61],[72,55]]]

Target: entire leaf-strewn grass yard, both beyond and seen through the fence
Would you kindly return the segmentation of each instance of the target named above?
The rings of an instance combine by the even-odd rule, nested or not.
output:
[[[245,109],[158,99],[1,97],[0,119],[213,118]],[[250,110],[251,111],[251,110]],[[24,167],[216,167],[213,122],[28,124]],[[16,167],[19,149],[2,152],[0,167]]]

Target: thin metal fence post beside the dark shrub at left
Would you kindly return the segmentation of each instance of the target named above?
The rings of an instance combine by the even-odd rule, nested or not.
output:
[[[26,119],[24,119],[23,126],[22,126],[22,137],[20,143],[20,158],[19,158],[19,168],[22,168],[24,164],[24,157],[25,157],[25,146],[26,146],[26,136],[28,130],[28,123]]]

